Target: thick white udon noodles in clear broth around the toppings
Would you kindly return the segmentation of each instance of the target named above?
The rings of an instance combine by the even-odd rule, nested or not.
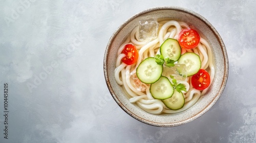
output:
[[[186,80],[182,82],[187,89],[186,92],[182,91],[185,98],[184,106],[178,110],[170,110],[163,104],[161,100],[154,99],[152,97],[150,92],[150,84],[144,84],[139,81],[139,79],[136,77],[136,68],[140,62],[147,57],[154,57],[156,54],[159,54],[159,47],[165,39],[178,39],[178,34],[180,31],[189,27],[187,23],[176,20],[163,20],[158,22],[159,30],[158,37],[156,39],[152,39],[151,41],[139,40],[139,26],[137,26],[133,29],[126,40],[120,45],[117,52],[115,79],[116,82],[123,87],[124,92],[130,99],[130,102],[136,103],[146,112],[152,114],[178,113],[193,106],[198,101],[198,99],[207,92],[209,87],[204,90],[197,90],[191,85],[191,76],[187,77]],[[121,52],[124,48],[124,45],[127,43],[134,44],[139,52],[137,63],[132,65],[126,65],[122,62],[122,58],[125,55],[121,54]],[[193,52],[199,55],[201,59],[201,68],[208,71],[211,84],[215,76],[215,67],[213,63],[211,48],[208,42],[201,37],[198,46],[194,49],[186,50],[186,52]],[[139,88],[136,87],[136,83],[140,83],[141,86]]]

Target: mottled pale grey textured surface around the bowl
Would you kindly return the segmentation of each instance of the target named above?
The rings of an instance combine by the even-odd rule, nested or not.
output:
[[[0,3],[1,143],[256,142],[255,0]],[[229,58],[219,101],[195,121],[173,128],[146,125],[126,114],[103,76],[113,32],[135,13],[157,6],[180,6],[204,16],[221,35]]]

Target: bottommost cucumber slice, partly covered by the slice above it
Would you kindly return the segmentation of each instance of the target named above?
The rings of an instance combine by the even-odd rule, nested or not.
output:
[[[182,108],[185,104],[185,98],[182,92],[174,90],[174,94],[171,98],[162,100],[164,105],[171,110],[178,110]]]

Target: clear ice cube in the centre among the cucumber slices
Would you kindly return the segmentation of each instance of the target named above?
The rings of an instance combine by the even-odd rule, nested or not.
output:
[[[175,64],[175,66],[168,67],[163,65],[163,76],[167,77],[170,81],[172,81],[172,76],[177,82],[186,81],[187,71],[185,64]]]

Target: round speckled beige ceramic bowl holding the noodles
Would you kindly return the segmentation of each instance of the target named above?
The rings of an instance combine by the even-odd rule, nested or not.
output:
[[[147,113],[129,102],[122,87],[114,78],[115,62],[119,45],[125,40],[141,19],[172,18],[194,25],[212,47],[216,67],[215,79],[208,92],[197,103],[178,114],[155,115]],[[112,35],[104,55],[104,76],[106,84],[117,104],[132,117],[153,126],[174,127],[191,122],[208,111],[220,98],[228,78],[228,57],[225,45],[216,29],[201,15],[180,7],[156,7],[144,10],[126,20]]]

